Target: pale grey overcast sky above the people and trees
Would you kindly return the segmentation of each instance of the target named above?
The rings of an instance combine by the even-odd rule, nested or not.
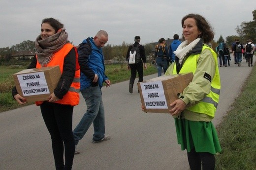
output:
[[[106,30],[108,44],[141,44],[173,39],[182,35],[181,19],[189,13],[204,16],[215,32],[237,35],[243,21],[253,21],[256,0],[0,0],[0,48],[40,34],[42,19],[53,17],[64,24],[69,41],[79,45],[83,39]]]

